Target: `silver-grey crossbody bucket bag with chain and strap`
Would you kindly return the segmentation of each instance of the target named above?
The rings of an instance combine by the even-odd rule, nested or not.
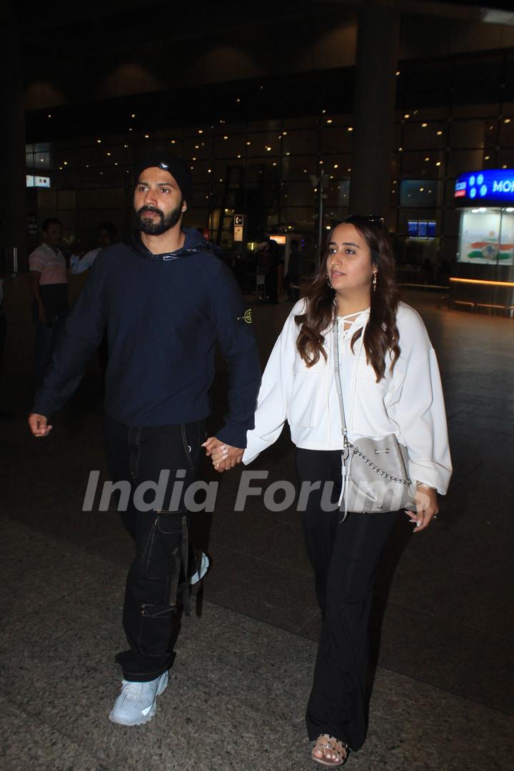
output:
[[[374,513],[415,509],[415,484],[408,478],[408,451],[394,433],[383,439],[348,439],[344,416],[341,372],[339,369],[339,320],[332,330],[334,345],[334,375],[341,412],[342,489],[340,507],[344,517],[348,511]]]

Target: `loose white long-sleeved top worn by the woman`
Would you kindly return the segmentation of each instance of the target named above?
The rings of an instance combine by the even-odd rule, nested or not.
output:
[[[299,327],[294,316],[302,312],[304,300],[294,305],[270,354],[260,386],[255,428],[247,433],[245,464],[278,439],[286,420],[297,447],[343,448],[331,333],[324,335],[327,360],[320,356],[314,366],[307,368],[296,347]],[[385,376],[377,383],[374,369],[366,363],[364,335],[354,345],[354,353],[350,348],[354,332],[366,325],[368,316],[369,311],[363,311],[346,332],[340,325],[341,387],[348,439],[379,439],[394,433],[408,449],[410,478],[444,495],[452,476],[452,461],[441,378],[425,325],[409,305],[398,305],[400,357],[391,375],[386,356]]]

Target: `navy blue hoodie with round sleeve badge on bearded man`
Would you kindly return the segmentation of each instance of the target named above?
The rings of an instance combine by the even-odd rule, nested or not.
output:
[[[250,315],[230,269],[198,231],[184,232],[183,247],[169,254],[152,254],[139,234],[102,251],[66,321],[33,412],[49,418],[62,407],[107,327],[109,416],[128,426],[206,418],[219,342],[230,372],[230,411],[217,437],[247,446],[260,385]]]

